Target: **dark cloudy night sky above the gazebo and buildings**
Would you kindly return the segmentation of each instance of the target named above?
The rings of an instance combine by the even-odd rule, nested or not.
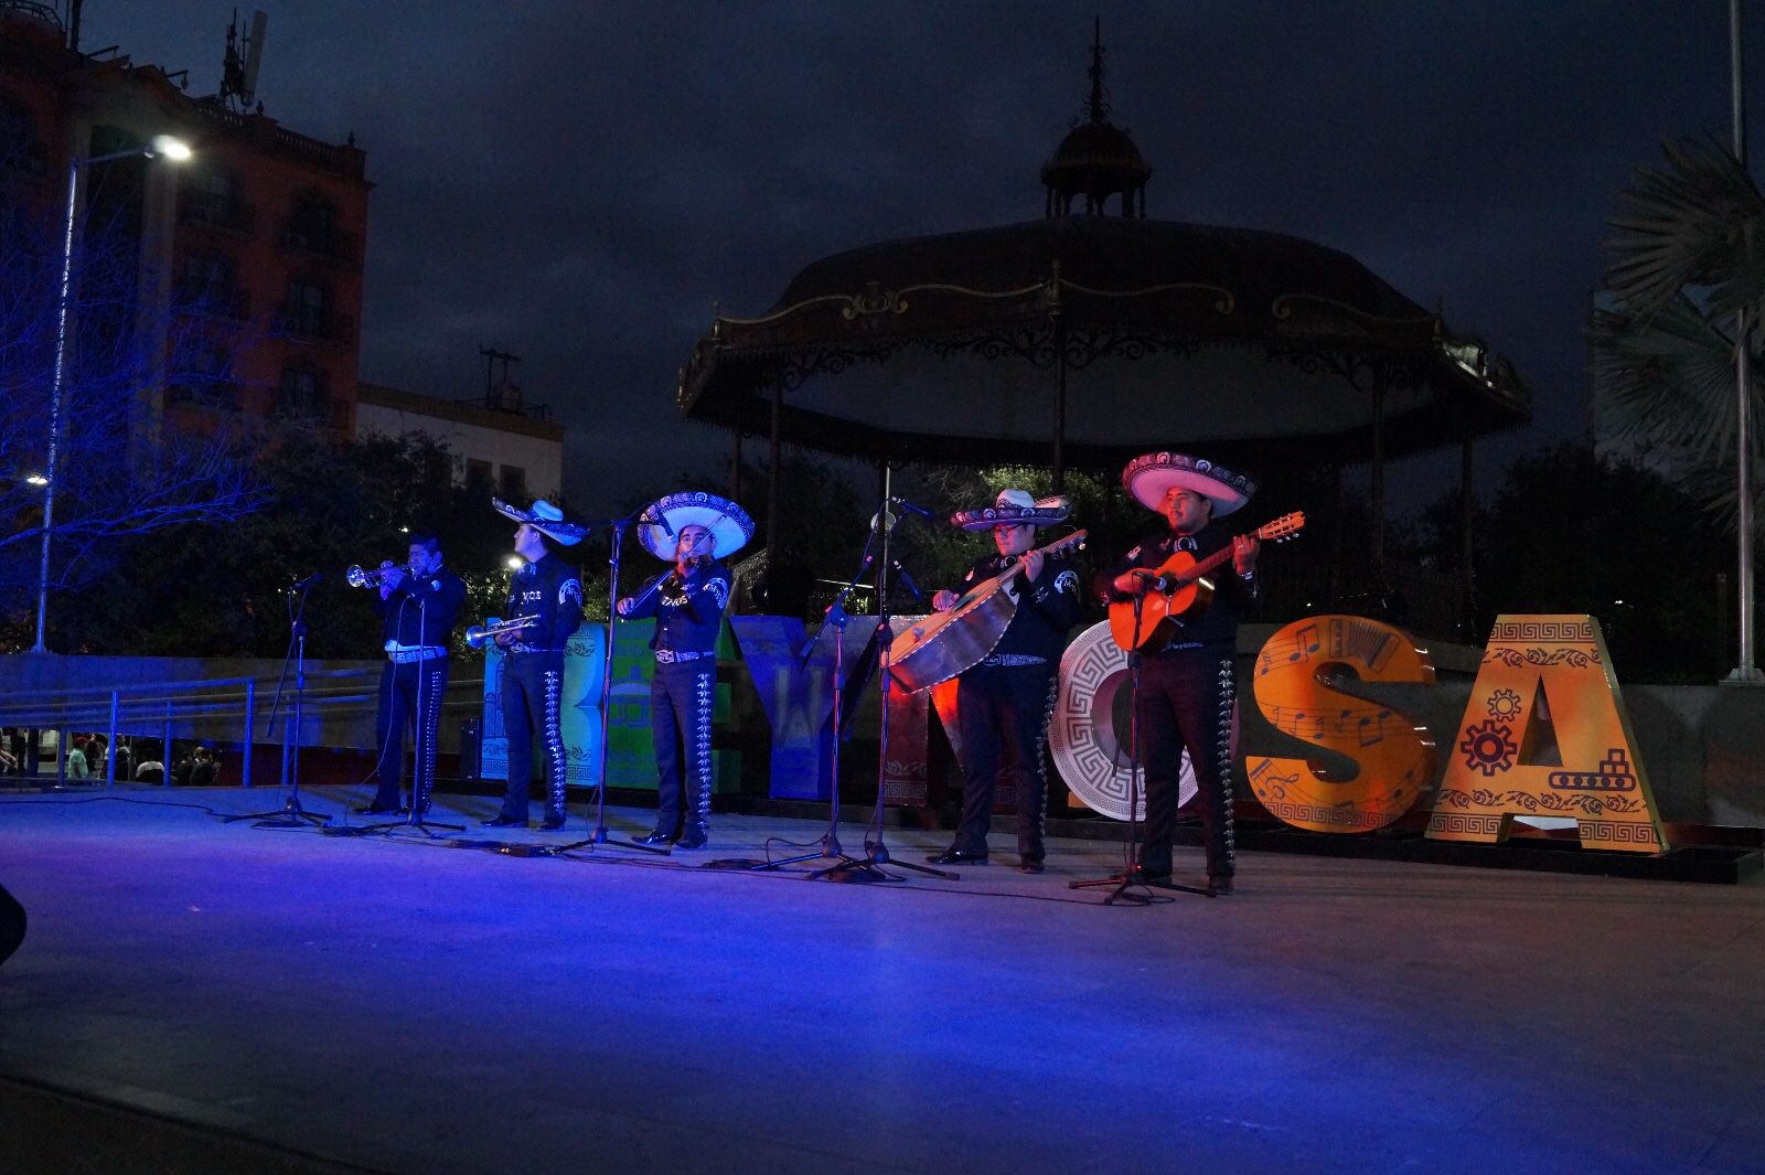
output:
[[[1306,236],[1444,302],[1536,395],[1490,464],[1583,427],[1631,171],[1663,136],[1730,134],[1724,0],[261,7],[267,113],[353,131],[378,185],[362,378],[462,397],[480,344],[521,355],[588,512],[727,453],[672,399],[713,303],[759,314],[828,252],[1040,217],[1093,14],[1149,215]],[[88,0],[81,41],[212,94],[229,14]],[[1747,46],[1765,62],[1760,5]],[[1456,455],[1423,464],[1398,485]]]

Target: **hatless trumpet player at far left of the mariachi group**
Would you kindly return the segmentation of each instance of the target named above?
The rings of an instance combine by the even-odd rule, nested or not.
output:
[[[379,790],[374,792],[374,803],[360,808],[372,815],[399,812],[406,723],[417,732],[411,810],[418,815],[429,810],[429,790],[436,782],[441,699],[447,695],[448,639],[466,603],[466,584],[441,566],[441,540],[436,535],[413,533],[408,554],[404,566],[387,561],[367,573],[387,651],[387,667],[379,674],[379,711],[374,718]]]

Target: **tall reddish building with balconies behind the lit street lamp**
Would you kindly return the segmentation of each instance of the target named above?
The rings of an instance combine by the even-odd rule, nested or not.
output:
[[[152,411],[355,429],[365,153],[185,95],[164,71],[67,48],[53,9],[0,4],[0,183],[14,217],[56,224],[74,161],[159,134],[185,164],[81,164],[76,226],[136,251],[134,319],[155,332]],[[95,229],[94,229],[95,231]],[[78,247],[78,245],[76,245]],[[171,342],[171,339],[176,342]],[[176,355],[169,351],[176,349]]]

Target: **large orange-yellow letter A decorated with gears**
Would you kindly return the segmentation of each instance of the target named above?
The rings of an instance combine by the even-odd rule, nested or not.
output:
[[[1560,764],[1520,762],[1539,692]],[[1497,843],[1516,815],[1574,817],[1583,849],[1666,852],[1649,775],[1592,616],[1502,616],[1483,651],[1428,836]]]

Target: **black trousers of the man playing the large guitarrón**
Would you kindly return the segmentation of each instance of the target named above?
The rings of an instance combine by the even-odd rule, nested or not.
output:
[[[962,824],[957,849],[983,856],[1001,778],[1017,783],[1017,852],[1041,861],[1048,775],[1041,748],[1048,737],[1059,665],[976,665],[957,686],[957,734],[962,739]]]

